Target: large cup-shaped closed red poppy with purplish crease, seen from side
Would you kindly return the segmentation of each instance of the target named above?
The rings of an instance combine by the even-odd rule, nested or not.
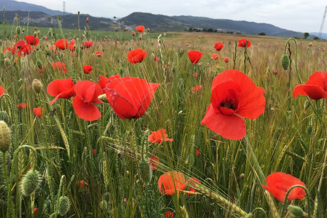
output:
[[[148,83],[137,77],[115,78],[106,87],[107,100],[118,117],[140,118],[158,87],[158,83]]]

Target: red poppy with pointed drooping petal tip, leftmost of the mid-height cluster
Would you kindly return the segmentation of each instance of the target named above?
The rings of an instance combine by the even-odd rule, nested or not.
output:
[[[55,98],[50,101],[50,105],[52,105],[58,98],[69,99],[75,96],[74,87],[75,85],[71,78],[51,81],[46,88],[49,95],[55,96]]]

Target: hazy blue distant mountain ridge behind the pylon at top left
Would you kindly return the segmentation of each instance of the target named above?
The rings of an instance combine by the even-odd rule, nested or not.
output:
[[[28,0],[26,0],[28,1]],[[58,14],[63,14],[62,11],[59,10],[51,10],[49,8],[45,8],[43,6],[39,5],[34,5],[34,4],[29,4],[26,2],[18,2],[14,0],[0,0],[0,7],[1,10],[3,7],[5,7],[5,11],[10,11],[10,10],[22,10],[22,11],[41,11],[43,13],[49,14],[49,15],[58,15]],[[65,14],[72,14],[65,12]]]

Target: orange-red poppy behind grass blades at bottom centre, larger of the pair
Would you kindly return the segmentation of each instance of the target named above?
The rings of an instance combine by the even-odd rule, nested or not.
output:
[[[161,175],[158,179],[159,192],[161,194],[174,195],[175,187],[179,192],[186,187],[184,175],[181,172],[169,171]]]

